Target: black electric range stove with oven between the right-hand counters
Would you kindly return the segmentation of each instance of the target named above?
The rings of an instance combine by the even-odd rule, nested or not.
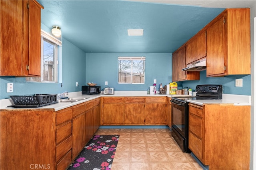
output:
[[[188,149],[188,102],[187,100],[220,100],[222,85],[197,85],[196,97],[172,98],[172,137],[183,152]]]

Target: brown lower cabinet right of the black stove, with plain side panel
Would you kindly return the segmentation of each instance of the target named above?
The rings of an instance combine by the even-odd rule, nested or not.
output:
[[[250,167],[250,106],[189,104],[189,149],[209,170]]]

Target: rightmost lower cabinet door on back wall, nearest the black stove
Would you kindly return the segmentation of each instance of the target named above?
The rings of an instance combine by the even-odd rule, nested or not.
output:
[[[146,104],[146,124],[166,124],[166,104]]]

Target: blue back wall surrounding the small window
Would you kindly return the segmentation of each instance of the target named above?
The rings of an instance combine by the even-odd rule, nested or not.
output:
[[[146,57],[145,84],[118,84],[118,56]],[[105,81],[115,90],[147,90],[156,79],[159,84],[172,81],[172,54],[170,53],[88,53],[86,54],[86,82],[96,82],[103,89]]]

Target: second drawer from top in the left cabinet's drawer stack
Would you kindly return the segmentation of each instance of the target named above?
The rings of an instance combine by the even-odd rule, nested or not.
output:
[[[58,127],[56,129],[56,144],[63,141],[63,139],[66,139],[67,137],[72,135],[72,123],[71,121],[67,124]]]

